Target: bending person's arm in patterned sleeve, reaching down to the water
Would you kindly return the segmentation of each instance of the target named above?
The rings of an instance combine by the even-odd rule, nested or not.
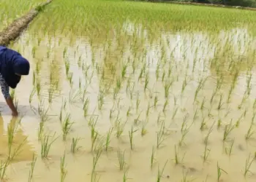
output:
[[[2,78],[2,76],[0,76],[0,86],[1,86],[1,92],[4,95],[7,105],[12,110],[12,116],[18,116],[18,111],[15,108],[13,101],[12,101],[12,97],[9,93],[9,91],[10,91],[9,85],[5,82],[5,80]]]

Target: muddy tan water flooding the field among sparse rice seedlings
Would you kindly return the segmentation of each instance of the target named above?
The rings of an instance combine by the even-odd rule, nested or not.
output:
[[[249,154],[253,158],[256,151],[255,135],[249,140],[245,139],[254,113],[253,50],[256,40],[240,28],[215,35],[163,31],[158,39],[151,40],[142,25],[129,21],[124,23],[121,33],[116,32],[110,41],[96,37],[100,40],[91,43],[89,37],[72,36],[72,33],[49,36],[40,31],[26,31],[12,45],[13,49],[30,60],[32,69],[15,91],[18,110],[23,118],[14,143],[17,145],[25,139],[26,142],[23,151],[8,168],[7,178],[28,181],[30,162],[35,153],[37,162],[34,181],[60,181],[60,159],[65,152],[65,181],[91,181],[93,154],[89,120],[98,118],[96,130],[100,138],[114,127],[110,149],[102,152],[96,167],[99,181],[123,181],[124,171],[118,169],[118,149],[125,150],[129,181],[157,181],[157,173],[165,166],[165,162],[161,181],[217,181],[217,165],[222,169],[219,181],[255,181],[253,173],[256,172],[256,163],[252,162],[249,167],[252,173],[246,173],[246,178],[244,170]],[[136,43],[135,37],[138,37]],[[70,63],[72,84],[67,79],[65,61]],[[125,65],[127,71],[122,78],[121,72]],[[138,79],[143,66],[145,72]],[[232,68],[238,69],[238,79],[230,102],[227,102],[234,77],[235,69]],[[34,87],[32,72],[36,75],[36,82],[40,81],[41,91],[39,95],[34,95],[29,104],[29,95]],[[249,84],[252,90],[241,104],[249,73],[252,73]],[[147,76],[148,85],[145,89]],[[113,98],[118,79],[122,80],[121,90]],[[194,100],[200,80],[206,82]],[[52,103],[49,103],[48,90],[54,82],[58,82],[57,90],[53,93]],[[168,82],[173,84],[165,98],[165,84]],[[219,82],[222,83],[221,87],[211,100]],[[83,100],[84,90],[86,95]],[[99,110],[102,90],[104,104]],[[86,98],[89,99],[89,111],[85,118],[83,103]],[[62,108],[62,117],[71,114],[71,121],[74,122],[67,141],[62,140],[59,121],[64,100],[67,100],[67,106]],[[12,122],[9,122],[10,111],[4,105],[3,98],[0,101],[1,157],[6,157],[7,125]],[[40,157],[42,142],[38,141],[37,135],[41,122],[37,112],[40,102],[45,110],[49,107],[44,135],[54,135],[52,139],[58,137],[50,147],[48,159]],[[116,121],[125,123],[120,138],[116,138]],[[219,127],[218,121],[221,121]],[[234,127],[223,141],[225,126],[228,129],[228,124],[230,128]],[[129,143],[131,126],[136,130],[132,150]],[[164,129],[159,132],[161,126]],[[141,135],[143,127],[145,135]],[[252,124],[252,131],[254,127],[255,124]],[[204,141],[208,133],[206,145]],[[157,135],[164,138],[159,140],[162,144],[158,148]],[[81,138],[78,142],[81,148],[75,154],[70,151],[72,138]],[[153,147],[156,152],[151,169]],[[207,154],[205,161],[204,151]]]

